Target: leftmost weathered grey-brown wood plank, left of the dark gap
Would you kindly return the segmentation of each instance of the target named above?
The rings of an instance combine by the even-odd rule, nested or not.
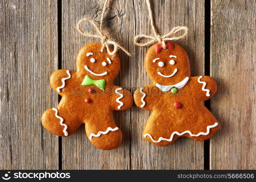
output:
[[[0,169],[58,169],[58,140],[41,125],[57,104],[57,5],[0,2]]]

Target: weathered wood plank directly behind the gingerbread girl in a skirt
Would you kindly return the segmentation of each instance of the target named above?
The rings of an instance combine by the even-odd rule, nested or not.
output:
[[[135,0],[136,35],[150,35],[151,28],[146,1]],[[175,26],[187,26],[188,36],[177,41],[187,51],[192,76],[204,74],[204,1],[153,0],[151,3],[160,34]],[[151,81],[144,69],[148,47],[136,47],[131,62],[132,86],[142,87]],[[134,90],[133,90],[134,91]],[[203,169],[203,142],[179,138],[170,146],[154,146],[142,138],[149,111],[132,108],[131,165],[132,169]]]

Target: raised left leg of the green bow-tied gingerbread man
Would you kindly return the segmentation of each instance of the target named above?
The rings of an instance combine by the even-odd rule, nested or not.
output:
[[[60,137],[67,137],[75,132],[82,124],[75,117],[74,113],[69,115],[67,108],[51,108],[42,115],[42,125],[46,130]]]

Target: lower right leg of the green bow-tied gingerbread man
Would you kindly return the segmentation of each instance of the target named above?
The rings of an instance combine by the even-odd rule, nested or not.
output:
[[[97,115],[85,123],[89,141],[103,150],[116,149],[122,142],[122,132],[116,126],[113,114]]]

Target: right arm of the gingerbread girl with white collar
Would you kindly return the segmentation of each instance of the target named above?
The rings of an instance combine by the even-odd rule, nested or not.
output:
[[[194,93],[203,101],[210,99],[217,91],[217,83],[210,76],[194,76],[192,80]]]

